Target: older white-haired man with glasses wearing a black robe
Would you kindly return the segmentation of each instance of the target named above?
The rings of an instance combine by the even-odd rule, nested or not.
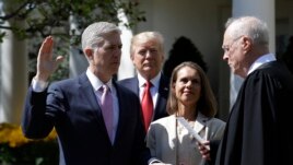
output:
[[[293,164],[293,75],[269,52],[266,23],[254,16],[230,19],[224,33],[223,59],[244,83],[232,107],[216,152],[214,142],[203,157],[215,165]],[[292,102],[292,103],[291,103]]]

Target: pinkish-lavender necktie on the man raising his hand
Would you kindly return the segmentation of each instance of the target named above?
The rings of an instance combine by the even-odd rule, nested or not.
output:
[[[103,90],[101,105],[104,122],[109,135],[110,141],[113,140],[113,98],[110,95],[110,90],[107,85],[101,87]]]

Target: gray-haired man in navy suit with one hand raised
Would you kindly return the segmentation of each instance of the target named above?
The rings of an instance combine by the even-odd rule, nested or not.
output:
[[[150,158],[136,94],[113,81],[121,56],[120,30],[107,22],[93,23],[82,34],[86,72],[48,86],[63,57],[52,59],[52,37],[37,57],[37,73],[25,102],[22,129],[27,138],[45,138],[56,129],[61,165],[144,165]],[[102,86],[110,91],[106,118]],[[47,87],[48,86],[48,87]],[[107,89],[106,87],[106,89]],[[110,127],[108,127],[110,121]]]

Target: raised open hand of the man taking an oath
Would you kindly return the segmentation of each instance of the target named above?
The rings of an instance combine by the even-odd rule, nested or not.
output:
[[[62,56],[58,56],[56,59],[52,59],[52,37],[46,37],[38,50],[37,73],[35,75],[36,80],[47,82],[49,76],[57,70],[59,63],[62,62]]]

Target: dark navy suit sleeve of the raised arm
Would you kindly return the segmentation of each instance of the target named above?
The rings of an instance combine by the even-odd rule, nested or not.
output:
[[[28,89],[22,130],[26,138],[46,138],[52,130],[58,116],[65,111],[65,96],[59,85],[52,83],[44,92]]]

